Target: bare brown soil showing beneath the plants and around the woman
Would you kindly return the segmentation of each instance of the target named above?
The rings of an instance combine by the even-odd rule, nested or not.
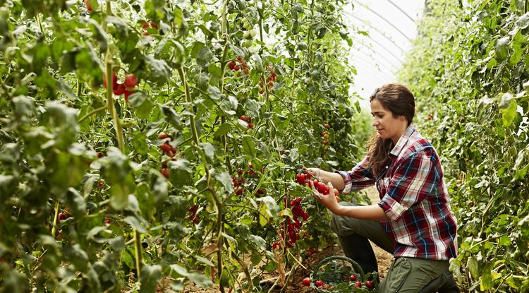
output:
[[[367,194],[370,196],[372,203],[377,203],[379,201],[378,192],[374,187],[367,189]],[[377,256],[379,276],[380,276],[380,279],[382,280],[384,276],[387,274],[389,265],[391,265],[391,261],[393,261],[393,256],[391,255],[391,253],[387,253],[386,251],[384,251],[383,249],[380,249],[375,244],[371,244],[371,246],[373,247],[373,251],[375,251],[375,256]],[[310,275],[315,265],[319,261],[321,261],[323,258],[327,258],[329,256],[336,256],[336,255],[343,256],[343,252],[341,251],[340,247],[337,244],[328,246],[322,249],[321,251],[318,251],[317,253],[313,253],[313,255],[310,258],[308,258],[305,261],[305,263],[303,263],[306,269],[298,267],[295,275],[293,276],[293,279],[291,280],[291,282],[289,282],[287,287],[284,289],[284,292],[285,293],[313,292],[310,287],[304,287],[301,284],[301,280],[303,280],[304,277],[308,277],[308,275]],[[269,287],[274,284],[273,278],[276,277],[277,275],[278,274],[270,274],[266,276],[272,279],[266,283]],[[265,284],[262,284],[262,285],[264,286]],[[280,292],[280,290],[281,290],[281,287],[277,286],[277,287],[274,287],[274,290],[272,292],[276,293],[276,292]],[[195,285],[188,285],[186,286],[186,289],[184,289],[183,292],[185,293],[217,293],[219,292],[219,287],[215,285],[213,287],[205,289],[202,287],[197,287]],[[226,292],[230,292],[230,289],[226,288]]]

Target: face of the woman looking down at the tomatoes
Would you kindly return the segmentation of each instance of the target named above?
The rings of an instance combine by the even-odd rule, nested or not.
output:
[[[371,115],[373,116],[372,125],[377,128],[379,136],[383,139],[391,139],[394,144],[408,128],[405,116],[394,117],[393,113],[382,107],[377,99],[371,101]]]

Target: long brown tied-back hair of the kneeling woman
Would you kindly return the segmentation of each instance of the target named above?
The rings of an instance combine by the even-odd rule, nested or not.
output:
[[[377,88],[369,97],[370,102],[377,100],[384,109],[387,109],[394,118],[406,117],[408,126],[415,116],[415,98],[408,88],[397,83],[388,83]],[[391,139],[382,139],[375,131],[367,142],[367,164],[371,167],[373,174],[377,176],[385,167],[388,153],[393,148]]]

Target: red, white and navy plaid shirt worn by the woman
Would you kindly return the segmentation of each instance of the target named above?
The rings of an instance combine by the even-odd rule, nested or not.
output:
[[[396,241],[394,256],[448,260],[457,256],[456,216],[449,206],[443,170],[432,145],[409,126],[389,153],[385,174],[375,179],[367,159],[337,171],[342,193],[377,185],[378,204],[390,220],[381,224]]]

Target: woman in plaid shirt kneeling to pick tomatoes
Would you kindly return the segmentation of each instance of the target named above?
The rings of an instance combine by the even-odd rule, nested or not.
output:
[[[370,102],[377,131],[365,159],[348,172],[306,169],[329,186],[328,195],[312,189],[314,196],[332,212],[331,227],[343,252],[365,272],[377,271],[368,239],[393,253],[379,292],[427,292],[427,285],[458,292],[448,270],[449,259],[457,256],[456,217],[437,152],[411,124],[413,94],[403,85],[387,84]],[[376,205],[339,204],[330,196],[334,188],[348,193],[374,184],[380,197]]]

